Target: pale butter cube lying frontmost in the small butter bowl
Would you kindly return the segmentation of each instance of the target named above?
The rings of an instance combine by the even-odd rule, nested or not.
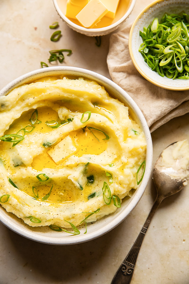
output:
[[[85,28],[92,28],[107,12],[107,7],[100,0],[90,0],[77,14],[76,19]]]

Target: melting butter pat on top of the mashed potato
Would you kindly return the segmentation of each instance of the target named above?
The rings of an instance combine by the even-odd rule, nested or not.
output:
[[[59,164],[63,159],[73,154],[76,150],[77,148],[75,147],[72,138],[68,135],[52,149],[48,150],[47,153],[56,164]]]

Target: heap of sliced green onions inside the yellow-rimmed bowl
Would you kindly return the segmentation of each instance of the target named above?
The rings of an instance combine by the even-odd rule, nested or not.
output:
[[[155,18],[140,36],[139,52],[148,66],[160,76],[189,79],[189,16],[182,12]],[[186,72],[187,73],[186,73]]]

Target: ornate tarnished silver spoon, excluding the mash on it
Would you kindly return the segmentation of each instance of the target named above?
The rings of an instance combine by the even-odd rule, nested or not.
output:
[[[172,145],[174,145],[175,143],[177,142],[172,143],[167,148],[165,148],[165,150],[167,149],[168,151],[170,151],[171,147],[173,148]],[[158,209],[162,200],[169,195],[179,192],[185,185],[183,183],[186,182],[186,180],[188,179],[188,171],[186,171],[185,176],[182,175],[182,178],[177,178],[177,179],[171,178],[171,171],[174,171],[173,168],[166,169],[160,167],[160,163],[162,160],[162,153],[158,157],[153,170],[154,184],[156,186],[158,193],[156,200],[154,202],[154,205],[152,206],[152,209],[146,219],[144,226],[142,227],[141,232],[139,233],[134,245],[132,246],[128,255],[122,262],[118,271],[116,272],[111,284],[129,284],[131,282],[131,278],[133,276],[135,264],[137,261],[137,256],[141,248],[143,239],[145,237],[146,231],[148,229],[148,226],[150,225],[152,217],[154,216],[154,213]],[[177,176],[179,176],[179,173],[177,173]]]

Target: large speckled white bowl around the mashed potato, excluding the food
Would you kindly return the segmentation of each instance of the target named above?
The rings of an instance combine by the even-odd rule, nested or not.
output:
[[[116,212],[110,214],[109,216],[103,217],[101,220],[89,223],[87,225],[87,233],[84,234],[85,228],[80,229],[80,235],[69,235],[65,232],[56,232],[46,227],[30,227],[26,225],[21,219],[14,216],[12,213],[7,213],[4,208],[0,206],[0,221],[9,227],[12,231],[34,241],[38,241],[41,243],[48,244],[56,244],[56,245],[69,245],[75,243],[82,243],[85,241],[89,241],[95,239],[114,227],[120,224],[133,210],[133,208],[137,205],[139,200],[141,199],[152,169],[152,140],[148,125],[146,120],[136,105],[136,103],[131,99],[131,97],[118,85],[116,85],[111,80],[105,78],[104,76],[97,74],[95,72],[76,68],[76,67],[67,67],[67,66],[56,66],[56,67],[48,67],[43,69],[38,69],[32,72],[29,72],[16,80],[9,83],[0,91],[1,95],[7,95],[12,89],[23,85],[28,82],[32,82],[33,80],[42,78],[44,76],[50,75],[74,75],[77,77],[84,77],[91,80],[95,80],[101,86],[104,86],[106,91],[114,98],[117,98],[121,102],[123,102],[126,106],[129,107],[130,116],[141,125],[147,142],[147,150],[146,150],[146,169],[142,182],[140,183],[138,189],[133,193],[132,197],[129,199],[124,199],[122,201],[121,208],[118,208]]]

